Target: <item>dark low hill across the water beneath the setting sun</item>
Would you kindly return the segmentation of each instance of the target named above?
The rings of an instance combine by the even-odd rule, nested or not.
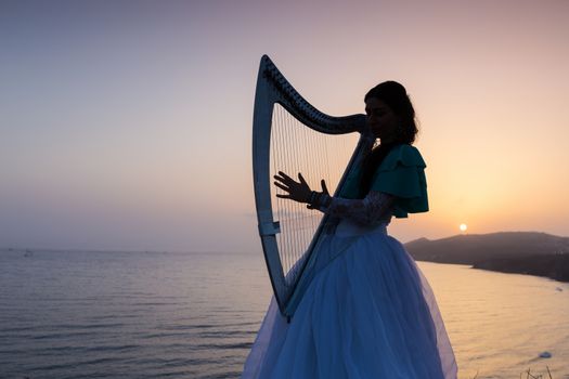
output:
[[[405,244],[417,261],[470,264],[569,282],[569,237],[536,232],[465,234]]]

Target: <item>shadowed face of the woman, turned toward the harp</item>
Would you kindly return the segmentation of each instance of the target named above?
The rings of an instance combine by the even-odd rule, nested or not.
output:
[[[401,121],[391,108],[379,99],[370,97],[365,101],[367,127],[382,143],[393,142]]]

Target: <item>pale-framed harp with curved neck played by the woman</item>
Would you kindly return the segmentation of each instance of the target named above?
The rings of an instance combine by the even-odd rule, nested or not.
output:
[[[337,220],[277,198],[272,177],[302,172],[312,188],[325,179],[338,195],[371,148],[365,115],[328,116],[310,105],[271,60],[261,58],[253,118],[253,174],[259,236],[281,314],[292,317],[311,262]]]

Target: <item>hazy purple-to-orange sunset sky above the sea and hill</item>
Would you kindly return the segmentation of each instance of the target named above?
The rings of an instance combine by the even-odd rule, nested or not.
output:
[[[0,248],[260,251],[257,69],[331,115],[402,82],[430,211],[402,241],[569,236],[569,1],[0,2]]]

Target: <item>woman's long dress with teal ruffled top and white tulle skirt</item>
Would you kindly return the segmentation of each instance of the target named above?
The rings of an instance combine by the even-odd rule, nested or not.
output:
[[[416,148],[398,146],[376,171],[372,192],[396,197],[396,217],[425,211],[424,168]],[[354,197],[350,185],[342,197]],[[290,323],[272,299],[242,378],[456,378],[435,296],[413,258],[387,234],[388,222],[385,214],[366,224],[341,219],[316,252],[315,274]]]

